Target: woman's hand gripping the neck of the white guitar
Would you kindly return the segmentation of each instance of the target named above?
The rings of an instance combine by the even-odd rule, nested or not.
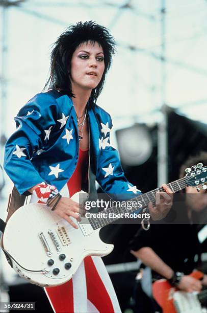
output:
[[[163,219],[167,215],[172,206],[173,199],[172,190],[166,184],[163,184],[162,188],[166,192],[158,191],[156,193],[156,207],[153,207],[151,202],[148,205],[149,213],[153,220]]]

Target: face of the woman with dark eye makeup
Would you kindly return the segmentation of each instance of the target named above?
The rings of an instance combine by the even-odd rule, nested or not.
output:
[[[104,73],[104,52],[97,42],[82,43],[73,53],[71,59],[70,79],[72,91],[77,88],[92,90]]]

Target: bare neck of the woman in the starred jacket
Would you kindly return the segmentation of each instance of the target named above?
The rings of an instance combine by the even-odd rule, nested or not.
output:
[[[76,115],[82,116],[90,98],[91,90],[74,91],[73,89],[72,93],[75,95],[75,98],[72,98],[72,102],[75,108]]]

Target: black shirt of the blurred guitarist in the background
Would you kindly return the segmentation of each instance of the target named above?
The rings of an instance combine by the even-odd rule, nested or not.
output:
[[[198,265],[201,245],[197,225],[190,223],[186,208],[183,207],[181,211],[179,208],[179,214],[186,220],[185,224],[152,224],[148,231],[140,228],[130,242],[130,249],[138,251],[150,247],[173,271],[190,274]],[[168,222],[174,214],[175,211],[171,209]]]

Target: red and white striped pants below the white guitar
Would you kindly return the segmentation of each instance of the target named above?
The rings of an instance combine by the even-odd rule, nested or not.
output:
[[[114,287],[100,257],[86,257],[72,279],[44,290],[57,313],[121,312]]]

